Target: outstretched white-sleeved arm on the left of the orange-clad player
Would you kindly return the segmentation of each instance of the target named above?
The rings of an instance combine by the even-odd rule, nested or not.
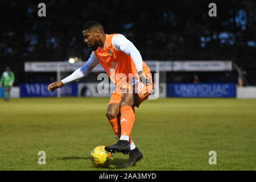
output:
[[[75,72],[73,72],[68,77],[65,77],[61,81],[53,82],[52,84],[48,85],[48,90],[51,90],[53,92],[57,88],[61,88],[61,86],[68,84],[69,82],[75,81],[77,79],[80,79],[82,77],[87,76],[96,65],[99,64],[96,56],[94,55],[94,52],[90,55],[88,61],[80,68],[76,69]]]

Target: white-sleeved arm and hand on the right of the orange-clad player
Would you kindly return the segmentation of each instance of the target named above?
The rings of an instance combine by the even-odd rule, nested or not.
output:
[[[134,44],[131,43],[130,40],[126,39],[125,36],[123,36],[122,34],[114,35],[112,39],[112,44],[114,48],[117,49],[117,51],[122,51],[126,53],[126,55],[131,56],[131,59],[133,60],[137,69],[139,78],[141,79],[141,82],[144,85],[150,85],[152,80],[150,77],[146,77],[145,73],[143,72],[143,61],[141,53],[139,53],[138,49],[134,46]]]

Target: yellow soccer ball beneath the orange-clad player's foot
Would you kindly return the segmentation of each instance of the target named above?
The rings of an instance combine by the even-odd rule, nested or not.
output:
[[[90,159],[93,166],[105,168],[113,162],[113,155],[105,150],[105,146],[97,146],[90,152]]]

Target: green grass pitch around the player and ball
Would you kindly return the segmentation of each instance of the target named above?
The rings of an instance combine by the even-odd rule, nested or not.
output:
[[[90,152],[117,142],[109,98],[0,100],[0,170],[256,170],[256,100],[159,98],[135,109],[131,137],[144,158],[97,169]],[[38,152],[46,164],[38,164]],[[217,164],[209,164],[216,151]]]

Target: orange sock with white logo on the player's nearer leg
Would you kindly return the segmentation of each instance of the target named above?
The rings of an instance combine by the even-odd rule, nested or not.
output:
[[[129,140],[131,129],[133,129],[133,123],[135,120],[134,110],[131,106],[122,106],[120,110],[121,110],[120,123],[121,123],[121,129],[122,129],[120,139]]]

